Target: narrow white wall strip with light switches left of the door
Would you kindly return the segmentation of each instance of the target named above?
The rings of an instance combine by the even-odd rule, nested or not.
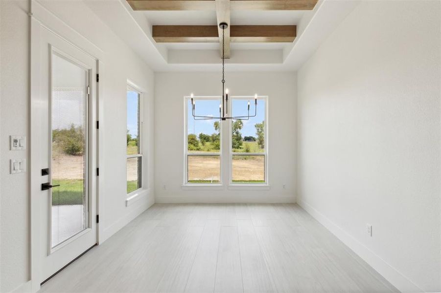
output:
[[[9,135],[28,132],[28,1],[0,1],[0,292],[28,280],[28,173],[9,174]]]

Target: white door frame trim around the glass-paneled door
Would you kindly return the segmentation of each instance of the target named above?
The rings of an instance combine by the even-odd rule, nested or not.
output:
[[[29,137],[28,146],[28,165],[29,165],[29,279],[31,292],[37,292],[40,289],[40,283],[42,280],[41,268],[43,265],[43,259],[41,256],[41,230],[42,230],[42,214],[40,211],[40,202],[37,200],[38,196],[41,196],[41,183],[42,176],[40,174],[40,164],[38,163],[39,147],[35,147],[34,142],[40,137],[40,117],[38,115],[38,109],[40,106],[40,68],[47,64],[40,63],[40,46],[41,46],[41,33],[43,30],[48,30],[59,38],[70,43],[72,46],[81,50],[85,54],[89,55],[96,60],[96,73],[100,75],[100,81],[96,83],[96,121],[102,121],[104,118],[103,111],[103,92],[102,72],[103,72],[103,50],[90,42],[68,24],[61,21],[54,14],[44,8],[38,1],[30,0],[30,42],[29,42]],[[92,77],[94,78],[94,77]],[[102,124],[102,123],[101,123]],[[99,131],[95,125],[95,122],[91,122],[90,131],[96,138],[96,167],[103,168],[103,131]],[[96,132],[95,132],[96,131]],[[92,149],[91,149],[92,150]],[[91,170],[92,176],[96,176],[96,170]],[[100,214],[100,202],[103,199],[102,194],[99,192],[103,190],[104,174],[101,172],[99,176],[96,176],[96,214]],[[102,206],[102,205],[101,205]],[[94,220],[94,219],[92,219]],[[96,229],[96,243],[99,244],[100,235],[102,235],[103,226],[98,223]],[[43,235],[45,237],[45,235]]]

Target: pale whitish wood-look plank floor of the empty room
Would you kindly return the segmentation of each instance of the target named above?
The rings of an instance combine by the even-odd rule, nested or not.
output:
[[[155,204],[40,292],[398,292],[295,204]]]

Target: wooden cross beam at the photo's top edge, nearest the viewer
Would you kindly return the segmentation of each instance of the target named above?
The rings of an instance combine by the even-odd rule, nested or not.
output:
[[[127,0],[133,10],[216,10],[216,0]],[[232,10],[312,10],[318,0],[231,0]]]

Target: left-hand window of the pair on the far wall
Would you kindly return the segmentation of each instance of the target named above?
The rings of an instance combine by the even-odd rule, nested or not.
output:
[[[219,116],[218,98],[194,98],[196,114]],[[191,100],[186,98],[186,184],[221,183],[221,133],[219,120],[194,120]]]

